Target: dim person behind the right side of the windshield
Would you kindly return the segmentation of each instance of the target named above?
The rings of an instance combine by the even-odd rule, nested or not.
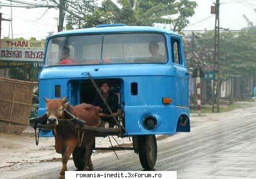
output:
[[[166,57],[165,55],[160,54],[159,43],[156,41],[151,41],[148,44],[148,50],[151,52],[151,62],[163,62]]]

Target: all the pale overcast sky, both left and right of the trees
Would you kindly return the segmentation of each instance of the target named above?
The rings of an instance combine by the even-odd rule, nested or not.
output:
[[[39,0],[21,0],[23,2],[40,2]],[[189,18],[190,24],[184,30],[213,30],[215,17],[210,14],[210,6],[216,0],[194,0],[198,6],[193,17]],[[240,30],[247,26],[243,14],[256,25],[256,0],[220,0],[220,27],[229,30]],[[0,0],[0,5],[9,4],[10,1]],[[13,2],[13,5],[15,3]],[[59,11],[55,9],[37,8],[25,9],[13,7],[12,13],[10,7],[1,7],[0,12],[3,13],[2,18],[11,19],[13,21],[2,21],[3,36],[11,38],[23,37],[29,39],[44,39],[48,36],[48,32],[57,32]],[[13,33],[11,32],[13,29]]]

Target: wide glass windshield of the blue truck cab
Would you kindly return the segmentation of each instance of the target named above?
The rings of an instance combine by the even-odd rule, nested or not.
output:
[[[46,65],[166,63],[161,34],[100,34],[50,39]]]

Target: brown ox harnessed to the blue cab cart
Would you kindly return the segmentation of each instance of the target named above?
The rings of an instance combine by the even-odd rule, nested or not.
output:
[[[79,130],[72,121],[63,119],[66,119],[65,108],[77,118],[85,120],[86,125],[97,126],[100,123],[100,119],[96,108],[86,103],[72,106],[68,103],[66,97],[63,99],[44,98],[44,100],[46,100],[47,107],[47,124],[51,126],[55,135],[55,150],[62,154],[63,166],[60,171],[60,177],[64,176],[67,170],[67,161],[74,149],[79,147],[79,142],[81,147],[86,149],[86,153],[83,155],[85,163],[83,170],[92,170],[91,152],[95,140],[95,132]],[[78,137],[78,133],[80,137]],[[82,136],[84,136],[83,139]]]

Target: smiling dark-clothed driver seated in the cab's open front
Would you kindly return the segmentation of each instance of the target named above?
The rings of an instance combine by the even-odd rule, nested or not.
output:
[[[117,112],[118,107],[118,97],[115,93],[110,91],[110,88],[111,84],[108,81],[104,81],[100,85],[101,94],[107,101],[109,107],[111,108],[111,111],[115,113]],[[101,116],[109,116],[110,112],[108,111],[108,108],[106,107],[104,101],[101,99],[98,93],[96,93],[94,100],[92,101],[92,105],[94,105],[96,109],[99,110],[100,113],[102,113]],[[109,128],[113,128],[116,124],[113,117],[102,117],[100,127],[104,127],[105,122],[109,123]]]

